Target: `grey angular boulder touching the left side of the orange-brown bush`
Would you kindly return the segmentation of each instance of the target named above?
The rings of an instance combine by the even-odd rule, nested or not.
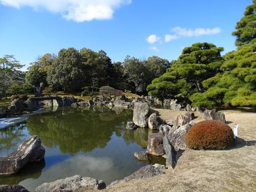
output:
[[[186,144],[185,144],[185,137],[187,134],[187,131],[194,125],[194,123],[189,123],[186,125],[183,125],[181,127],[178,127],[175,130],[169,131],[168,134],[168,140],[171,142],[172,146],[176,151],[178,150],[185,150]]]

